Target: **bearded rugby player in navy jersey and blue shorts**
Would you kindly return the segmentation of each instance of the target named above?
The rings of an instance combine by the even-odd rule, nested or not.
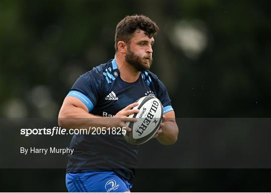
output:
[[[155,95],[162,102],[164,115],[154,138],[164,145],[175,143],[178,126],[171,100],[165,85],[149,71],[158,30],[156,23],[146,16],[127,16],[121,20],[116,26],[114,59],[77,79],[60,109],[59,125],[125,127],[125,121],[136,121],[127,117],[139,112],[132,109],[138,105],[134,101]],[[122,134],[73,135],[69,148],[74,149],[67,163],[69,191],[130,191],[138,146],[127,143]]]

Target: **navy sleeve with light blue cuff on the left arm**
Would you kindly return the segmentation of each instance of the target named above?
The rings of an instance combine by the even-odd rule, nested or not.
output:
[[[100,76],[93,71],[89,71],[76,80],[67,96],[78,98],[90,112],[97,104],[100,89]]]

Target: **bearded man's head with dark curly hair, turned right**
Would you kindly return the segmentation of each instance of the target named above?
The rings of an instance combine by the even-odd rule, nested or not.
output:
[[[115,50],[125,55],[125,61],[138,71],[152,64],[152,45],[159,28],[146,16],[127,16],[121,20],[115,33]]]

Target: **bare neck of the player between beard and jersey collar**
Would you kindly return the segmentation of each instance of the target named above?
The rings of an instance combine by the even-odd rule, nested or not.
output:
[[[116,60],[117,68],[120,73],[120,78],[123,81],[132,83],[139,79],[140,71],[138,71],[133,66],[128,64],[125,61],[124,56],[119,56],[118,54],[116,54],[115,60]]]

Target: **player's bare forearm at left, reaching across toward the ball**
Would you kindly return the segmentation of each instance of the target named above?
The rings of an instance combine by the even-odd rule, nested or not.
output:
[[[60,110],[58,124],[63,128],[110,127],[112,118],[90,114],[82,108],[71,106]]]

